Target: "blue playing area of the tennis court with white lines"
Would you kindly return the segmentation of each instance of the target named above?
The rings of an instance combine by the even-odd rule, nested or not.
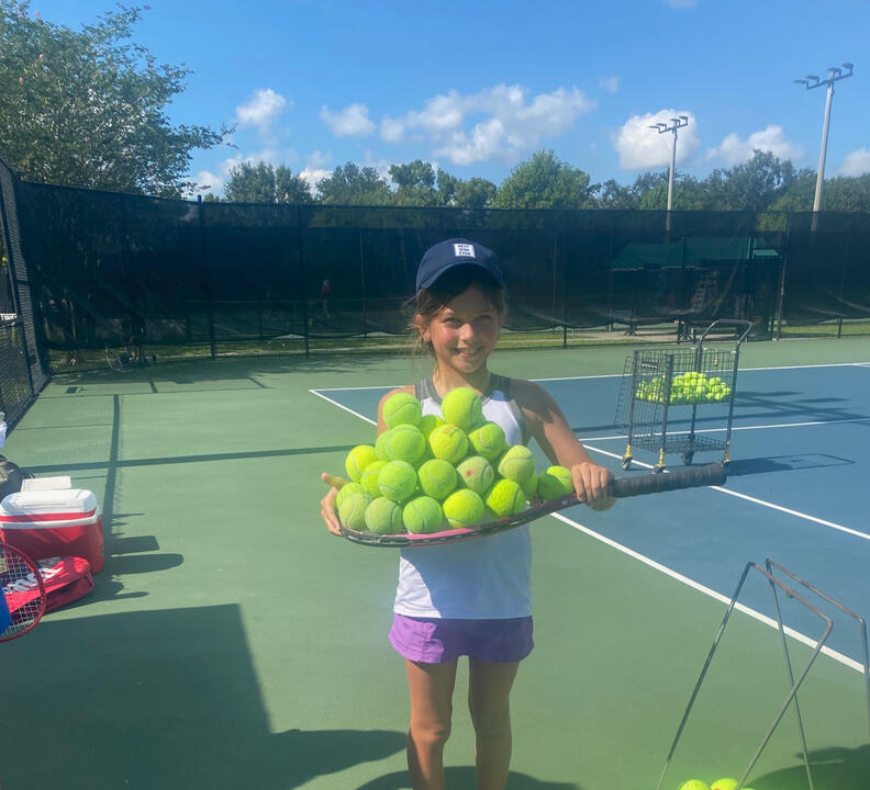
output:
[[[644,474],[656,463],[651,451],[635,449],[632,469],[621,466],[626,440],[614,428],[621,376],[539,383],[593,458],[614,474]],[[373,424],[380,397],[393,385],[312,392]],[[763,566],[771,558],[870,618],[868,392],[870,364],[741,370],[725,486],[626,499],[604,514],[576,507],[555,518],[680,579],[687,595],[729,600],[746,564]],[[674,413],[677,420],[680,414]],[[668,430],[684,425],[670,421]],[[725,406],[699,407],[700,431],[723,438],[726,425]],[[721,459],[721,452],[698,452],[694,463]],[[682,464],[679,455],[666,461],[671,469]],[[770,592],[747,585],[739,603],[763,619]],[[790,617],[787,625],[799,637],[819,635],[818,621],[807,611],[799,608]],[[861,642],[857,622],[836,616],[826,653],[860,670]]]

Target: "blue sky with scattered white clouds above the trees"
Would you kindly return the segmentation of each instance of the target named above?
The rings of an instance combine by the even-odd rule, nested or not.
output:
[[[132,3],[129,3],[132,4]],[[192,153],[200,192],[242,161],[312,184],[353,161],[388,176],[414,159],[499,184],[540,149],[593,182],[667,168],[698,178],[769,150],[826,177],[870,172],[867,0],[148,0],[134,40],[192,70],[174,124],[221,125]],[[33,0],[79,29],[111,0]],[[845,74],[845,70],[844,70]],[[208,189],[207,189],[208,187]]]

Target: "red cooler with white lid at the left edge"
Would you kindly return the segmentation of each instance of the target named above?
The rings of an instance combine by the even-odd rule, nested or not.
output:
[[[0,503],[0,532],[32,560],[80,556],[93,573],[102,569],[102,519],[93,492],[63,488],[10,494]]]

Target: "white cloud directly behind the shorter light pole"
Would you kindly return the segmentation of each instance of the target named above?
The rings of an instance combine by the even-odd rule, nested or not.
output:
[[[659,110],[657,113],[633,115],[616,133],[613,147],[620,155],[620,167],[623,170],[649,170],[669,165],[672,134],[658,134],[649,126],[657,123],[670,124],[671,119],[680,115],[689,117],[689,125],[678,132],[677,162],[691,159],[701,145],[694,115],[684,111]]]

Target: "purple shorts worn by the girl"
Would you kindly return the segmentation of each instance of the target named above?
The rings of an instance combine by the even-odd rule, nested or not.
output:
[[[443,664],[460,655],[488,662],[518,662],[535,646],[532,618],[457,620],[393,614],[390,643],[410,661]]]

